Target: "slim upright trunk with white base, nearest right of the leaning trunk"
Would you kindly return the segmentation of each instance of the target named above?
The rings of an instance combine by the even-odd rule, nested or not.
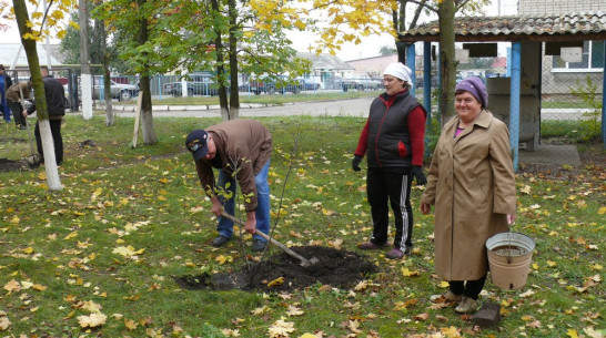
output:
[[[92,119],[92,80],[89,64],[89,13],[87,0],[78,0],[78,21],[80,23],[80,86],[82,89],[82,116]]]

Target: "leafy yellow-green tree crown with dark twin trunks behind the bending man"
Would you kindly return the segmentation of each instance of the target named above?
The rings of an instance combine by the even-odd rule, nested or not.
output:
[[[149,39],[122,44],[121,58],[133,68],[147,64],[141,74],[175,71],[186,76],[212,71],[223,120],[238,119],[239,72],[277,79],[282,73],[294,78],[310,68],[307,61],[295,58],[296,51],[290,47],[283,30],[292,24],[284,16],[274,8],[259,10],[255,6],[257,1],[150,0],[137,11],[148,18]],[[130,12],[130,1],[110,0],[94,16],[123,31],[132,25]],[[145,93],[143,79],[141,91]]]

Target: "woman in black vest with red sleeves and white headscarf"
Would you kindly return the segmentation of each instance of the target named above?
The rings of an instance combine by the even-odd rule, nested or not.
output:
[[[366,154],[366,194],[373,218],[371,240],[361,249],[388,245],[388,207],[395,217],[393,248],[385,257],[400,259],[411,254],[413,211],[411,186],[426,183],[423,174],[426,110],[411,95],[411,70],[400,63],[387,65],[383,73],[385,93],[371,104],[368,120],[354,152],[352,167],[360,171]]]

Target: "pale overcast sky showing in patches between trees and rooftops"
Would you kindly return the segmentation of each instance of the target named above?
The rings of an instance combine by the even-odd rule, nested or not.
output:
[[[501,11],[498,9],[501,9]],[[489,6],[486,11],[488,16],[515,16],[517,14],[517,0],[493,0],[493,4]],[[313,44],[316,40],[310,32],[293,32],[290,34],[290,38],[293,41],[293,48],[300,52],[307,52],[310,44]],[[363,42],[357,45],[353,43],[342,45],[341,51],[337,51],[336,55],[343,61],[372,58],[380,54],[382,47],[394,47],[394,39],[388,34],[366,37],[363,38],[362,41]],[[7,32],[2,32],[2,42],[21,42],[17,25],[13,24]],[[51,43],[59,43],[59,41],[51,39]]]

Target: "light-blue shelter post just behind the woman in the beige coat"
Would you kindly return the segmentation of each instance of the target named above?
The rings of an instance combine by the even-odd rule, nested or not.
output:
[[[509,146],[514,153],[514,172],[517,172],[519,151],[519,82],[521,74],[521,43],[512,42],[512,81],[509,96]]]

